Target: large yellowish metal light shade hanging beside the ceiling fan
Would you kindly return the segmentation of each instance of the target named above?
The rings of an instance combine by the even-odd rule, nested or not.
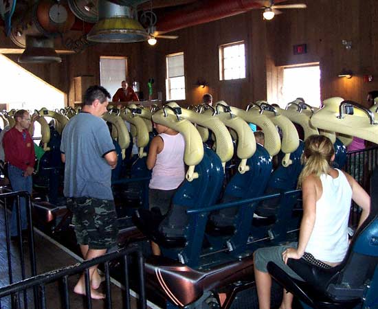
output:
[[[99,0],[99,21],[87,34],[88,41],[100,43],[146,41],[149,38],[148,32],[132,18],[131,10],[128,6]]]

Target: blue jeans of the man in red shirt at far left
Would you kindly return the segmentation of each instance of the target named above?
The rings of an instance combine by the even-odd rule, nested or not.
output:
[[[32,176],[23,176],[23,170],[16,168],[14,165],[8,165],[8,173],[10,184],[13,191],[27,191],[32,194]],[[21,229],[27,229],[27,212],[26,212],[26,199],[20,198],[20,216],[21,216]],[[10,236],[17,236],[17,213],[16,203],[14,201],[12,207],[12,218],[10,220]]]

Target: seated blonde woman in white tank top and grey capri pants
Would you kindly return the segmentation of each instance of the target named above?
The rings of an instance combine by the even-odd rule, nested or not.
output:
[[[304,143],[304,168],[298,179],[302,187],[303,217],[298,243],[258,249],[254,253],[254,273],[260,309],[270,308],[271,277],[267,263],[276,263],[291,277],[301,279],[287,260],[304,258],[329,268],[340,264],[348,249],[348,218],[351,199],[362,207],[359,226],[370,211],[370,197],[352,176],[331,168],[335,159],[328,137],[311,135]],[[280,309],[290,309],[291,293],[284,293]]]

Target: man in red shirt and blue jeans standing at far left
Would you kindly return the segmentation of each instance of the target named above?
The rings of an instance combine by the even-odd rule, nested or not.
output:
[[[34,143],[29,131],[30,115],[24,109],[14,113],[16,124],[3,137],[5,161],[8,162],[8,174],[13,191],[27,191],[32,194],[32,174],[34,172]],[[20,198],[21,230],[27,229],[25,198]],[[17,239],[16,207],[13,205],[10,222],[10,236]]]

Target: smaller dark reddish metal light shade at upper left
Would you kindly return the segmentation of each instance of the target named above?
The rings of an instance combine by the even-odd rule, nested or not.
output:
[[[26,36],[25,51],[19,56],[20,63],[62,62],[54,49],[54,38]]]

